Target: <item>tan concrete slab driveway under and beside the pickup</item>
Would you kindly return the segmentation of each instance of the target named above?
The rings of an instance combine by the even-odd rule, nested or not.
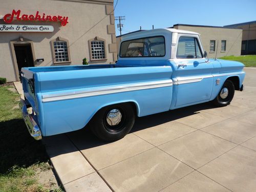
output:
[[[256,68],[230,105],[210,103],[136,119],[104,143],[89,129],[44,139],[67,191],[255,191]]]

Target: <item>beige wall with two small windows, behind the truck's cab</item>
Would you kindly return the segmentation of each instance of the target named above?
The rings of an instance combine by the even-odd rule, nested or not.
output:
[[[200,33],[204,50],[209,58],[241,55],[242,30],[216,27],[174,26],[175,29]],[[210,40],[216,40],[215,52],[210,52]],[[221,51],[221,40],[226,40],[226,51]],[[217,48],[218,45],[218,48]],[[217,55],[216,55],[217,53]]]

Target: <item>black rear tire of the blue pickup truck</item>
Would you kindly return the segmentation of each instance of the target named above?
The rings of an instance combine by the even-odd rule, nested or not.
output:
[[[113,111],[115,112],[113,113]],[[110,125],[112,121],[110,119],[107,120],[107,117],[110,117],[109,114],[116,113],[121,114],[120,122],[117,121],[116,125]],[[90,122],[90,128],[99,139],[103,141],[116,141],[131,131],[134,121],[135,109],[132,104],[113,104],[105,106],[94,115]]]

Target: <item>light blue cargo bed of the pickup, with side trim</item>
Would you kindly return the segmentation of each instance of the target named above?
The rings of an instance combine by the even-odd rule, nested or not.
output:
[[[42,136],[50,136],[81,129],[114,102],[137,103],[138,116],[169,110],[172,72],[170,66],[37,67],[23,68],[22,81]]]

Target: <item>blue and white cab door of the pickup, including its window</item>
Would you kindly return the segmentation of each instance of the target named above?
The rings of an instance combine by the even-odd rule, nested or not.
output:
[[[210,98],[212,64],[205,62],[198,35],[179,35],[175,63],[178,68],[175,84],[178,85],[175,106],[186,105]]]

